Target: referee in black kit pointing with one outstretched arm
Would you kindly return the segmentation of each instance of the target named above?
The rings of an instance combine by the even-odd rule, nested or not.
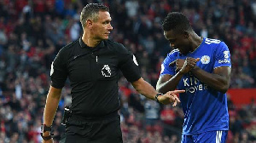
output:
[[[143,80],[135,56],[122,44],[108,40],[113,30],[108,7],[87,4],[80,21],[83,36],[63,47],[51,66],[51,86],[41,134],[43,142],[53,142],[51,124],[67,77],[72,88],[72,116],[66,127],[66,138],[61,142],[123,142],[118,114],[119,70],[137,92],[162,104],[175,106],[179,101],[176,94],[184,90],[159,94]]]

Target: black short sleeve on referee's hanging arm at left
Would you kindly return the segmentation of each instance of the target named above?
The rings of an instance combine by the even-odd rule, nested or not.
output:
[[[51,78],[51,86],[56,89],[61,89],[64,87],[64,84],[67,80],[67,64],[65,63],[64,51],[61,49],[59,53],[56,55],[55,60],[51,64],[50,69],[50,78]]]

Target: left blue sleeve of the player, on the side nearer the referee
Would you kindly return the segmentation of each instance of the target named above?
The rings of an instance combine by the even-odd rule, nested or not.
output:
[[[172,66],[169,66],[170,63],[172,63],[172,61],[177,60],[177,52],[172,51],[170,54],[167,54],[166,59],[163,61],[162,65],[161,65],[161,72],[160,72],[160,76],[163,76],[165,74],[169,74],[169,75],[175,75],[175,69],[176,66],[175,64],[173,64]]]

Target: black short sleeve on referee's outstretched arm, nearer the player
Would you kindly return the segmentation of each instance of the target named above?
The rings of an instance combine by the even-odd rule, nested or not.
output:
[[[119,54],[119,68],[130,83],[141,77],[135,55],[131,54],[131,51],[125,49],[124,46],[121,46],[121,53]]]

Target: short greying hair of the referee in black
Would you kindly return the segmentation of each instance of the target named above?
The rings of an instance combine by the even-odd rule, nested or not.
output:
[[[96,21],[98,19],[99,11],[108,11],[107,6],[100,3],[89,3],[87,4],[81,12],[80,22],[84,27],[86,20],[90,19]]]

